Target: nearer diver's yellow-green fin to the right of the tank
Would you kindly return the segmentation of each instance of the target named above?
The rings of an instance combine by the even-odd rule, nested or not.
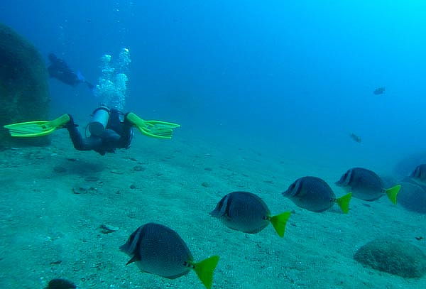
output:
[[[180,124],[173,124],[165,121],[146,121],[133,112],[126,115],[126,119],[136,126],[141,133],[153,138],[172,138],[173,129],[180,127]]]

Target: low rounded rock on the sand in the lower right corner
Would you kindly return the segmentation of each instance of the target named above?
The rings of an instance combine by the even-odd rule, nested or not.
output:
[[[398,239],[373,240],[356,251],[354,259],[378,271],[404,278],[420,278],[426,273],[425,253]]]

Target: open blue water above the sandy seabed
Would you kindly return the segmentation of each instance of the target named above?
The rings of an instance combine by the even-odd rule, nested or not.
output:
[[[182,124],[187,141],[391,173],[425,148],[425,11],[414,0],[3,0],[0,21],[94,84],[99,58],[129,48],[126,111]],[[84,119],[99,102],[57,80],[50,93],[52,116]]]

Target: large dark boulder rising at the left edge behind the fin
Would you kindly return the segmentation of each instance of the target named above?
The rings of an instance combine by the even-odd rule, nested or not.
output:
[[[0,146],[45,145],[48,138],[11,138],[4,124],[45,120],[48,72],[35,47],[0,23]]]

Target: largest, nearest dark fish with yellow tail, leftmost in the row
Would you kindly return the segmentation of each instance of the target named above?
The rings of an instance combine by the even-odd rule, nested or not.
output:
[[[126,263],[136,263],[141,271],[175,279],[194,270],[204,286],[212,288],[214,269],[219,256],[195,263],[185,241],[176,231],[162,224],[148,223],[129,236],[120,251],[131,256]]]

